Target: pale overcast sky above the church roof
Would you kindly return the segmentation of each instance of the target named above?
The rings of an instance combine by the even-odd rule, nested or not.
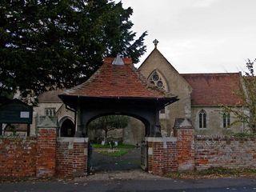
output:
[[[118,1],[116,1],[118,2]],[[256,58],[256,0],[122,0],[133,30],[180,73],[237,72]]]

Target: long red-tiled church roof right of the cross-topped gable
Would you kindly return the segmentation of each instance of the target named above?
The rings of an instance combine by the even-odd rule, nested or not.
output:
[[[242,106],[236,93],[242,89],[239,73],[181,75],[192,86],[192,106]]]

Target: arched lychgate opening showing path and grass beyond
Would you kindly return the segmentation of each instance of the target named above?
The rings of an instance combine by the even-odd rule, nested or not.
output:
[[[99,121],[100,118],[96,118],[94,121]],[[90,164],[88,168],[92,169],[91,172],[146,169],[147,158],[145,154],[142,155],[142,149],[143,151],[146,149],[145,126],[137,118],[128,116],[124,118],[129,119],[126,126],[108,131],[107,136],[104,130],[95,130],[95,127],[91,129],[89,124],[88,136],[92,153],[88,153]],[[104,119],[107,118],[103,118],[101,121]],[[94,121],[90,123],[94,124]]]

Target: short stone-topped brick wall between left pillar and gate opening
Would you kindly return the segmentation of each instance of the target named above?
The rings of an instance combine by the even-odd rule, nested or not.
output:
[[[57,174],[63,177],[83,176],[87,171],[88,138],[58,138]]]

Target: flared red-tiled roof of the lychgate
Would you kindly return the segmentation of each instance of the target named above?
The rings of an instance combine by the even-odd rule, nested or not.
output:
[[[122,65],[114,65],[114,58],[105,58],[103,65],[84,83],[65,90],[63,94],[82,97],[169,98],[164,90],[150,83],[134,67],[130,58],[122,58]],[[174,97],[171,95],[171,97]]]

